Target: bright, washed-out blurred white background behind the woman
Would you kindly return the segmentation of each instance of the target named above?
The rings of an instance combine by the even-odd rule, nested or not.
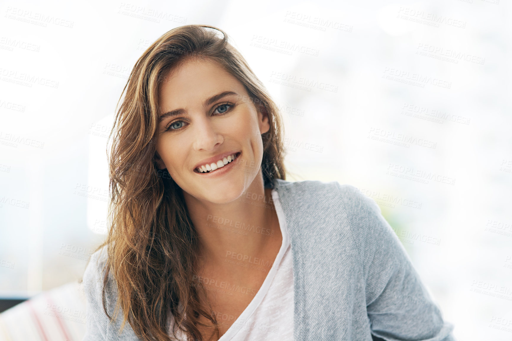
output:
[[[512,339],[510,2],[0,10],[4,300],[81,278],[106,233],[105,148],[132,67],[168,30],[207,24],[227,32],[279,104],[287,179],[356,186],[379,204],[459,341]]]

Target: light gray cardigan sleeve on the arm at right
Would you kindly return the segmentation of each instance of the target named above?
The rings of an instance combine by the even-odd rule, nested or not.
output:
[[[360,255],[372,335],[387,341],[455,341],[454,326],[443,321],[375,201],[353,186],[340,187]]]

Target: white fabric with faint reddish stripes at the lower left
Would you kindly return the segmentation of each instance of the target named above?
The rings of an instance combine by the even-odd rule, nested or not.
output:
[[[0,314],[0,341],[81,341],[86,332],[82,284],[42,292]]]

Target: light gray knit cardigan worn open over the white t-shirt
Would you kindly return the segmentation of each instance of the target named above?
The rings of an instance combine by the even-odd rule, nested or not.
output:
[[[443,321],[375,201],[336,181],[275,179],[274,185],[292,245],[294,340],[455,341],[454,326]],[[83,340],[139,340],[128,323],[117,335],[120,321],[109,321],[103,311],[104,262],[103,250],[93,254],[83,275]],[[114,283],[111,277],[109,313]]]

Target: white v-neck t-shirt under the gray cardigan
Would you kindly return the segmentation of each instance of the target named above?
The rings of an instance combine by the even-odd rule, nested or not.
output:
[[[290,237],[275,189],[272,190],[272,200],[278,214],[283,243],[258,294],[219,341],[293,340],[293,263]],[[177,336],[184,338],[179,330]]]

